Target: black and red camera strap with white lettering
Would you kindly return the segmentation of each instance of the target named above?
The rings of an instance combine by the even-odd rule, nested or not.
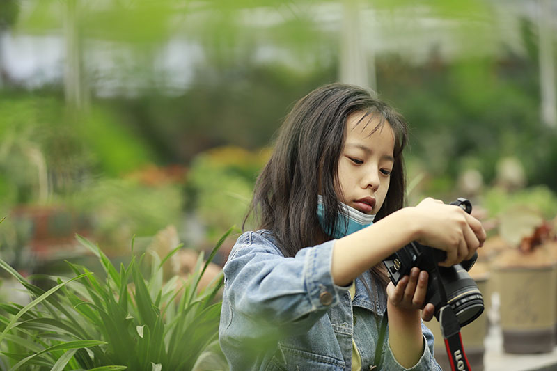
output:
[[[464,353],[462,336],[460,336],[460,324],[453,308],[446,305],[439,311],[439,324],[441,334],[445,340],[450,369],[453,371],[471,371],[470,363]]]

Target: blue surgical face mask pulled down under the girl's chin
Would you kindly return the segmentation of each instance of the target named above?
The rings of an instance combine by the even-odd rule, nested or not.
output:
[[[375,214],[365,214],[354,209],[354,207],[345,205],[344,203],[340,203],[340,207],[342,210],[338,212],[334,230],[327,230],[327,227],[325,226],[325,207],[323,205],[323,196],[317,196],[317,218],[319,219],[321,228],[323,228],[327,235],[333,238],[341,238],[373,224]]]

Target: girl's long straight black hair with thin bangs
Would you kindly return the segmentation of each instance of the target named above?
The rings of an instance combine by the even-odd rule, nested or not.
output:
[[[378,129],[389,123],[395,134],[391,182],[375,221],[405,205],[402,149],[407,123],[374,93],[347,84],[329,84],[301,98],[286,116],[274,151],[256,182],[250,214],[258,227],[270,230],[285,256],[323,241],[317,219],[317,194],[323,196],[325,223],[335,226],[340,210],[338,161],[345,142],[346,121],[352,113],[377,116]]]

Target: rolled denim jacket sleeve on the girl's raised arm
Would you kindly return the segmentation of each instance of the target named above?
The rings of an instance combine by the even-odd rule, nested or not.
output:
[[[256,337],[276,329],[289,335],[308,331],[348,290],[333,282],[333,246],[334,240],[285,258],[257,232],[242,235],[224,267],[229,322]]]

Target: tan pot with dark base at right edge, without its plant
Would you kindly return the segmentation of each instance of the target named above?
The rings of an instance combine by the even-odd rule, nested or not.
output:
[[[547,248],[506,251],[494,265],[503,349],[551,352],[555,345],[557,266]]]

